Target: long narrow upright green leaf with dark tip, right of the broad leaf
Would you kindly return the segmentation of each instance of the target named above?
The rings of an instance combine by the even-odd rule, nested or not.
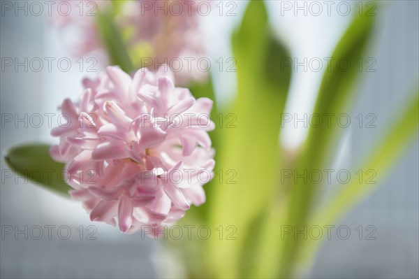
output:
[[[314,113],[324,115],[325,113],[343,113],[344,109],[351,103],[355,93],[354,85],[360,73],[356,61],[362,57],[369,37],[372,34],[374,17],[358,15],[348,27],[344,36],[339,41],[332,54],[334,60],[328,64],[328,71],[325,72],[321,87],[319,89]],[[337,60],[344,58],[351,63],[346,71],[339,68]],[[322,169],[328,162],[329,155],[335,150],[337,131],[327,125],[309,130],[307,141],[301,152],[297,155],[295,162],[288,163],[286,169],[296,169],[303,173],[304,169]],[[281,185],[288,195],[281,203],[275,204],[270,215],[265,221],[265,234],[261,236],[264,240],[263,261],[260,262],[257,273],[254,276],[264,278],[277,277],[289,278],[293,276],[292,271],[296,264],[297,255],[302,248],[302,241],[292,236],[285,239],[275,239],[275,246],[269,240],[281,236],[281,228],[288,225],[304,226],[307,224],[307,216],[311,209],[313,198],[316,195],[318,185],[307,185],[303,183]],[[278,203],[278,202],[277,202]],[[271,246],[270,246],[271,245]],[[277,270],[273,263],[278,263]]]

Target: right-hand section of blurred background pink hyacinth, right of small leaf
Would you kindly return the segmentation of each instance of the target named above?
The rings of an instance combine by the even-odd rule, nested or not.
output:
[[[143,42],[151,44],[153,55],[149,57],[149,69],[156,70],[159,64],[169,64],[175,72],[177,82],[182,85],[187,84],[189,80],[206,78],[207,71],[198,68],[198,60],[205,58],[205,38],[199,28],[198,13],[198,5],[202,2],[128,2],[122,22],[126,27],[135,30],[130,45]]]

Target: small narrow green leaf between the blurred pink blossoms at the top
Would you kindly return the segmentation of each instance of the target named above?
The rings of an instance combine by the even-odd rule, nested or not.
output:
[[[110,63],[120,66],[126,73],[131,73],[135,69],[128,55],[126,45],[122,39],[120,31],[115,26],[108,11],[98,10],[96,16],[96,27],[101,36],[103,45],[108,50]]]

